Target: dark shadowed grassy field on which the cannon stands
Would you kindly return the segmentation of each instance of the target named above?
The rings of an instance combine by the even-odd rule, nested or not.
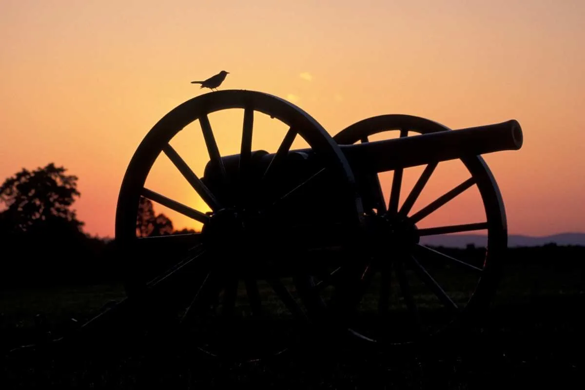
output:
[[[375,351],[321,340],[266,362],[228,364],[173,334],[140,336],[116,348],[12,354],[2,360],[0,388],[583,388],[584,290],[575,259],[517,258],[482,326],[419,346]],[[59,333],[67,319],[82,322],[123,296],[121,285],[3,291],[2,351],[32,342],[36,313]]]

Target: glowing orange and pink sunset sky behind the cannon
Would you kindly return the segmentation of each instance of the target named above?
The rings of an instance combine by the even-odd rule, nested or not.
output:
[[[168,111],[208,91],[191,80],[223,69],[221,89],[289,99],[332,135],[384,113],[453,129],[517,119],[522,149],[484,156],[510,232],[585,232],[583,19],[580,0],[4,0],[0,177],[64,165],[80,177],[75,208],[85,230],[113,236],[137,144]],[[239,147],[238,120],[218,119],[222,153]],[[204,146],[191,145],[177,149],[204,164]],[[153,185],[190,199],[174,178],[182,180],[154,174]],[[422,203],[462,181],[449,171],[436,180],[429,190],[438,192]],[[480,203],[463,202],[429,226],[477,219]],[[177,228],[189,223],[168,215]]]

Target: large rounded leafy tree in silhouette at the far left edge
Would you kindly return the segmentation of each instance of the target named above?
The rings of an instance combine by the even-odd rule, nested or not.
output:
[[[83,222],[77,220],[71,205],[81,196],[77,191],[77,176],[66,175],[64,167],[54,163],[29,171],[23,168],[7,178],[0,187],[2,230],[29,232],[37,227],[67,226],[81,231]]]

